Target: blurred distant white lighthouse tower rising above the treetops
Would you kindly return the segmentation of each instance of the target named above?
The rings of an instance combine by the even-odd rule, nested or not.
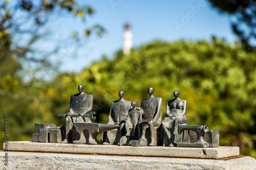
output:
[[[130,23],[125,23],[125,31],[123,33],[123,54],[129,55],[133,47],[133,33],[130,29]]]

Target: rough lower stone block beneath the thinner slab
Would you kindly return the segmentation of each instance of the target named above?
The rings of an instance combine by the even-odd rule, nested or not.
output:
[[[5,152],[0,152],[3,158]],[[85,154],[8,152],[4,169],[256,169],[256,160],[249,156],[224,159],[162,158],[139,156],[106,156]]]

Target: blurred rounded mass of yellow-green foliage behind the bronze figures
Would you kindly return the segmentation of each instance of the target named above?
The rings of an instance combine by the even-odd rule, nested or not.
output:
[[[220,130],[220,145],[239,146],[241,154],[256,157],[256,58],[255,52],[240,47],[216,38],[211,42],[153,41],[133,49],[129,56],[117,51],[114,58],[103,56],[79,74],[67,72],[51,82],[37,80],[32,83],[36,86],[20,87],[20,82],[7,78],[1,88],[30,96],[0,98],[3,113],[9,115],[10,138],[30,140],[34,123],[62,126],[64,119],[56,114],[68,112],[70,95],[78,92],[79,84],[93,94],[99,123],[108,122],[110,104],[119,99],[119,90],[139,107],[148,97],[147,88],[153,87],[164,105],[174,98],[175,90],[180,91],[179,97],[187,101],[189,125]]]

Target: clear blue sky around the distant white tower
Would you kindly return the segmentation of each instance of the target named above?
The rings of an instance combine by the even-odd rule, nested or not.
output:
[[[83,22],[72,16],[50,22],[48,28],[53,30],[52,41],[47,42],[46,46],[49,47],[50,44],[54,45],[57,41],[69,37],[73,31],[82,33],[85,28],[97,23],[107,32],[101,38],[92,36],[79,45],[71,41],[61,42],[63,45],[60,52],[53,58],[54,62],[62,63],[61,71],[79,72],[93,61],[100,60],[103,55],[112,58],[114,52],[122,48],[123,25],[126,21],[132,24],[135,47],[156,39],[168,42],[180,39],[196,41],[210,40],[212,35],[225,38],[231,43],[236,40],[236,36],[231,31],[230,17],[219,14],[217,9],[213,9],[207,1],[90,0],[79,2],[92,6],[96,10],[95,14],[87,17]],[[197,8],[193,15],[190,6],[199,6],[200,10]],[[184,20],[182,22],[184,15],[190,17],[190,19],[187,18],[189,21],[185,20],[188,23]],[[177,29],[175,23],[184,24]]]

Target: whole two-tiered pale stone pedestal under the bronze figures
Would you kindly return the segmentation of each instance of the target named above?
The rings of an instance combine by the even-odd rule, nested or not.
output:
[[[6,154],[0,152],[0,156]],[[238,147],[131,147],[17,141],[8,143],[1,169],[256,169]]]

